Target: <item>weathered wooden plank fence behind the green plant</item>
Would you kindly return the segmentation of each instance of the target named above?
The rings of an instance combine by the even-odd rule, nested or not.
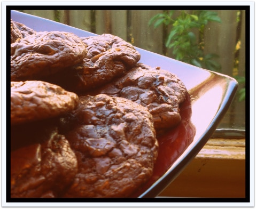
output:
[[[174,58],[172,51],[165,48],[164,29],[149,26],[149,20],[162,10],[22,10],[46,19],[90,31],[96,34],[110,33],[133,43],[134,46]],[[209,22],[204,31],[204,52],[216,53],[222,66],[221,73],[234,76],[245,75],[245,11],[218,10],[221,23]],[[237,14],[240,13],[237,21]],[[237,49],[239,51],[237,51]],[[239,53],[237,53],[239,52]],[[237,60],[238,67],[235,67]],[[242,105],[242,107],[241,107]],[[239,112],[231,123],[244,126],[244,103],[232,106]],[[239,111],[238,111],[239,110]],[[232,118],[234,116],[230,116]]]

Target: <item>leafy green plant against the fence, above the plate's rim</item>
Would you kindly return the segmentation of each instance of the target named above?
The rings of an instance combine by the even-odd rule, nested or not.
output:
[[[213,71],[220,71],[221,66],[214,59],[217,54],[204,54],[204,29],[208,22],[221,22],[217,13],[206,10],[194,10],[191,14],[181,11],[176,18],[172,18],[174,10],[164,11],[154,15],[149,21],[149,25],[154,28],[160,25],[171,26],[165,46],[173,49],[176,60],[180,60],[200,68]],[[195,28],[199,32],[197,38]]]

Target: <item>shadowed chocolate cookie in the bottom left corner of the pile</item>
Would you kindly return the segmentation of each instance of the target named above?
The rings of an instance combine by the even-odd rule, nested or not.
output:
[[[11,197],[58,197],[74,179],[76,156],[57,130],[32,128],[16,126],[19,133],[12,132],[12,143],[25,140],[25,145],[11,152]]]

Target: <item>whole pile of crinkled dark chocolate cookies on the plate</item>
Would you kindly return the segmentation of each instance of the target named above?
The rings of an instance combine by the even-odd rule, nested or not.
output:
[[[11,20],[11,197],[129,197],[188,92],[120,37]]]

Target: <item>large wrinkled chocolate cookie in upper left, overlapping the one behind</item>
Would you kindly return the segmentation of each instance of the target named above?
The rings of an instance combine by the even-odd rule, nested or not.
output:
[[[72,33],[38,32],[11,44],[11,81],[36,80],[76,65],[86,45]]]

